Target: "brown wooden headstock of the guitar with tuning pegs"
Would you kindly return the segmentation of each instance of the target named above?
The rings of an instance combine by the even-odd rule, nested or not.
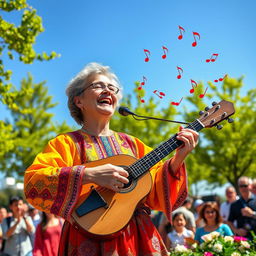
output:
[[[205,128],[217,126],[221,129],[218,123],[227,119],[228,122],[232,123],[233,119],[229,118],[235,113],[234,104],[230,101],[222,100],[219,103],[213,102],[213,107],[206,107],[205,111],[200,111],[200,118],[198,120],[204,125]]]

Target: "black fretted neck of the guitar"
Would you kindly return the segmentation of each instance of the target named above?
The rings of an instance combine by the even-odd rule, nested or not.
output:
[[[193,123],[190,123],[186,128],[200,131],[204,128],[204,125],[197,119]],[[147,172],[152,166],[168,156],[173,150],[183,144],[182,141],[177,140],[177,134],[173,135],[167,141],[162,142],[154,150],[146,154],[144,157],[129,166],[130,175],[133,179],[137,179],[145,172]]]

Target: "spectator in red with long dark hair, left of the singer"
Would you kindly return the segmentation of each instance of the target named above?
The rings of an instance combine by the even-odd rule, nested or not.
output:
[[[42,213],[42,221],[36,228],[33,256],[57,256],[62,222],[51,213]]]

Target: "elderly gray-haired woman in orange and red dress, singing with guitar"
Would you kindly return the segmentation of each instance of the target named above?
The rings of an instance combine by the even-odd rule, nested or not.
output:
[[[149,209],[163,211],[170,218],[172,209],[186,198],[184,160],[198,141],[198,133],[191,129],[181,128],[177,133],[177,139],[184,143],[173,158],[150,168],[152,188],[121,230],[99,237],[78,228],[71,217],[89,184],[119,193],[129,183],[130,175],[124,168],[111,162],[92,167],[92,161],[120,154],[139,159],[152,150],[136,137],[110,129],[121,92],[109,67],[88,64],[66,90],[71,116],[82,128],[50,140],[26,170],[27,200],[39,210],[66,220],[59,247],[61,256],[167,255]]]

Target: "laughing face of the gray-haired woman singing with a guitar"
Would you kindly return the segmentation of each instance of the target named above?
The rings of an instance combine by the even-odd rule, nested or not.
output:
[[[99,86],[93,87],[91,84],[105,85],[105,88]],[[111,117],[118,103],[118,95],[109,89],[107,85],[113,85],[113,82],[104,75],[93,75],[89,78],[88,85],[84,92],[75,98],[75,103],[86,117],[108,116]]]

